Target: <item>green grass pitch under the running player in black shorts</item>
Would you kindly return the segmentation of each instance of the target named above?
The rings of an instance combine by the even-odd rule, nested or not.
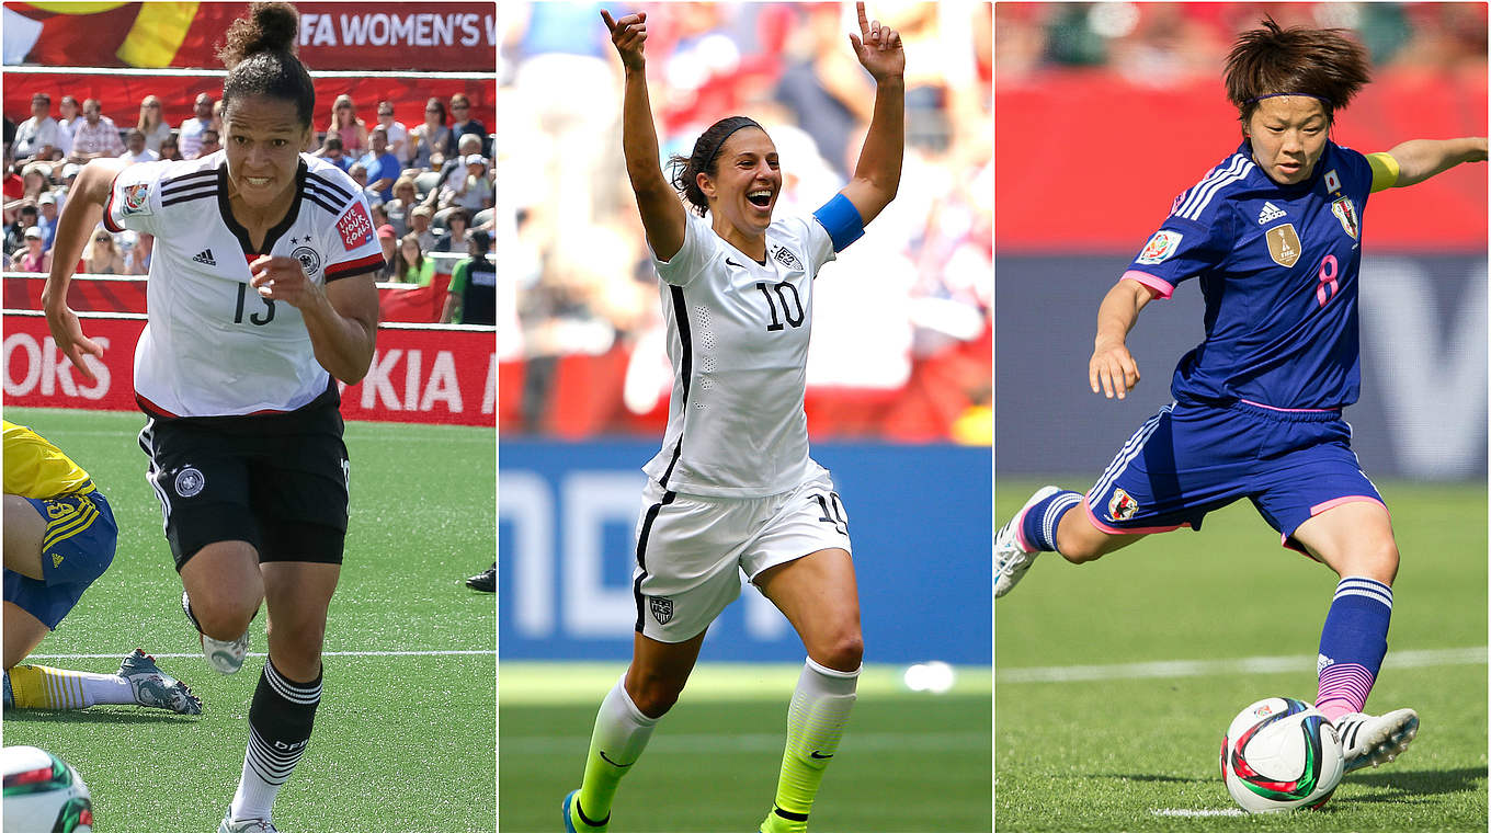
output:
[[[145,481],[142,414],[7,408],[6,419],[88,469],[119,522],[113,565],[36,651],[69,659],[34,662],[112,674],[143,647],[188,681],[204,714],[9,709],[4,744],[43,747],[76,766],[98,830],[216,830],[243,763],[264,615],[243,671],[221,677],[201,659]],[[325,688],[274,821],[285,833],[492,832],[497,605],[462,580],[495,557],[495,432],[347,423],[346,443],[352,520]]]

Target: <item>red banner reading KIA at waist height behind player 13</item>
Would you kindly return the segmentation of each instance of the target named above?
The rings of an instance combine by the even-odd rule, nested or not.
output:
[[[39,313],[4,317],[4,402],[16,407],[133,411],[134,344],[145,316],[83,316],[104,349],[88,358],[95,381],[67,361]],[[350,420],[497,426],[497,337],[491,328],[392,325],[379,328],[367,377],[343,386]]]

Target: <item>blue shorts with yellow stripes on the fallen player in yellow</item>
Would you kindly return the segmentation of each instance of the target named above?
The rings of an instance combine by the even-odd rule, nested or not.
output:
[[[49,629],[63,621],[83,590],[113,562],[119,528],[101,492],[27,498],[46,519],[42,539],[42,581],[4,571],[4,601],[42,620]]]

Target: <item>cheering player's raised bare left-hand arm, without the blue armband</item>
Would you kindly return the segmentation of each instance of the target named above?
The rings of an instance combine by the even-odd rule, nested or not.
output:
[[[622,57],[625,82],[622,86],[622,152],[626,156],[626,176],[637,194],[637,210],[643,218],[647,244],[659,261],[666,261],[683,249],[683,232],[687,216],[678,192],[668,183],[658,164],[658,128],[652,119],[652,101],[647,97],[647,60],[643,46],[647,42],[647,12],[611,19],[601,9],[601,19],[611,31],[611,43]]]

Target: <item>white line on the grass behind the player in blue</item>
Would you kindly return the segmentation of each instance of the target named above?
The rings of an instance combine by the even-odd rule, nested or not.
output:
[[[1212,674],[1285,674],[1315,668],[1315,656],[1243,657],[1232,660],[1172,660],[1123,665],[1066,665],[1048,668],[994,668],[994,682],[1091,682],[1153,677],[1206,677]],[[1390,651],[1384,668],[1485,665],[1487,648]]]

